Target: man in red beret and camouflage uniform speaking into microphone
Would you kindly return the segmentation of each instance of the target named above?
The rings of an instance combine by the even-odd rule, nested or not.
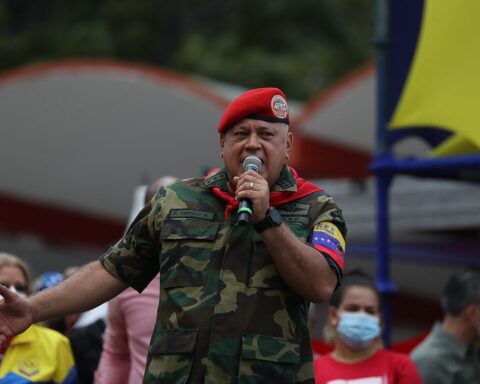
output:
[[[341,211],[286,166],[292,135],[281,90],[241,95],[218,130],[224,168],[161,189],[100,263],[70,282],[28,302],[7,293],[0,335],[56,315],[51,302],[66,292],[73,300],[62,310],[78,311],[126,285],[141,291],[160,271],[144,383],[313,384],[308,305],[341,280]],[[259,173],[243,171],[252,155]],[[237,223],[240,200],[251,202],[247,225]]]

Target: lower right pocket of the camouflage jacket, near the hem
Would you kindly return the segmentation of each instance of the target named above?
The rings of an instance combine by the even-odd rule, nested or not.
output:
[[[300,361],[297,340],[251,335],[242,338],[238,384],[294,382]]]

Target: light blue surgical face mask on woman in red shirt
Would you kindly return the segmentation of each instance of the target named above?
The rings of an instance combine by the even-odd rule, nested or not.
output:
[[[343,312],[337,331],[348,346],[355,349],[367,347],[380,335],[379,319],[365,312]]]

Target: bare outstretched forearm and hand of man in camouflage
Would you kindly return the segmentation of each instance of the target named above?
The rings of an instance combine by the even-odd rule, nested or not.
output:
[[[32,323],[84,312],[111,299],[127,285],[113,277],[99,261],[82,267],[59,285],[24,299],[0,285],[0,342]]]

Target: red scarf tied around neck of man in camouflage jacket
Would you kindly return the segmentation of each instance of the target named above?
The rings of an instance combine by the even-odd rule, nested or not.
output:
[[[208,175],[212,174],[213,172],[218,171],[219,168],[212,169],[208,172]],[[297,183],[297,190],[296,191],[274,191],[270,192],[270,206],[271,207],[278,207],[279,205],[288,203],[290,201],[294,201],[300,199],[302,197],[308,196],[314,192],[322,191],[321,188],[317,187],[315,184],[310,183],[309,181],[301,178],[298,176],[298,173],[293,168],[289,168],[292,175],[295,177],[295,181]],[[227,207],[225,209],[225,219],[228,220],[230,213],[237,209],[240,202],[235,200],[231,194],[222,191],[218,187],[212,187],[212,193],[217,196],[219,199],[225,201],[227,203]]]

